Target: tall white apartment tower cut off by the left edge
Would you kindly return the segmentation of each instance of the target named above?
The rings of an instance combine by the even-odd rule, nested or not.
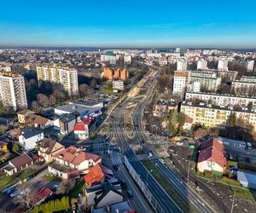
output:
[[[14,110],[27,108],[24,77],[17,72],[0,72],[0,100]]]

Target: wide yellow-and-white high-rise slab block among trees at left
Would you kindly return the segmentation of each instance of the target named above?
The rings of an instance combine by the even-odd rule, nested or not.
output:
[[[68,95],[78,95],[78,72],[74,69],[58,66],[37,66],[38,83],[59,83]]]

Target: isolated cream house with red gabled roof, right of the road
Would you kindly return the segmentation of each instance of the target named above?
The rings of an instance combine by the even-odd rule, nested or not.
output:
[[[201,150],[197,160],[197,170],[200,172],[218,171],[224,173],[227,160],[224,155],[224,145],[217,138],[201,144]]]

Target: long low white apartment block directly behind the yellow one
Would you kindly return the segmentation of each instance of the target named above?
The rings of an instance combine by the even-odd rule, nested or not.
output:
[[[247,107],[252,104],[256,107],[256,97],[238,96],[238,95],[223,95],[216,93],[201,93],[201,92],[187,92],[185,101],[203,101],[217,106],[236,106]]]

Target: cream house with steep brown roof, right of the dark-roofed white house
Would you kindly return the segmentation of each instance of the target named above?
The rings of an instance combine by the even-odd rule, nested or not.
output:
[[[49,164],[54,160],[54,155],[64,149],[65,147],[57,141],[50,138],[44,138],[38,147],[38,155],[44,158],[44,161]]]

